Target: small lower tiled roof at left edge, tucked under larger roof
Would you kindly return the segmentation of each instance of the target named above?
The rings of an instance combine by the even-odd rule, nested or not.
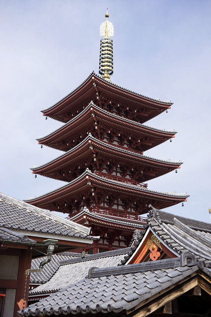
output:
[[[1,221],[1,220],[0,220]],[[20,234],[8,228],[0,227],[0,242],[1,243],[22,243],[26,245],[35,244],[36,241],[29,239],[27,235]]]

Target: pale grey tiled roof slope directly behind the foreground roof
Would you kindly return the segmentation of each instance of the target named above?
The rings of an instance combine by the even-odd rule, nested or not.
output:
[[[124,259],[131,248],[119,249],[115,251],[103,252],[94,255],[88,255],[84,260],[71,259],[64,261],[57,272],[45,284],[32,290],[29,295],[47,294],[56,292],[72,283],[83,279],[88,269],[91,267],[104,268],[107,266],[117,266]]]

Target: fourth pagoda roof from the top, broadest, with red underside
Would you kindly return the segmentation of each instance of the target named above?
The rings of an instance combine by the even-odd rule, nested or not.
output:
[[[157,199],[162,202],[162,208],[182,202],[188,197],[186,193],[176,194],[150,191],[147,188],[141,187],[141,185],[136,186],[114,181],[109,178],[101,177],[91,173],[88,169],[86,169],[83,174],[67,185],[36,198],[27,198],[25,201],[29,202],[30,204],[39,205],[41,208],[46,208],[49,203],[59,202],[60,200],[64,201],[69,197],[75,197],[76,194],[79,193],[84,195],[84,192],[86,190],[90,190],[92,185],[101,190],[106,188],[108,191],[118,192],[118,194],[121,193],[122,198],[124,196],[130,196],[137,197],[137,199],[140,199],[141,197],[146,199]]]

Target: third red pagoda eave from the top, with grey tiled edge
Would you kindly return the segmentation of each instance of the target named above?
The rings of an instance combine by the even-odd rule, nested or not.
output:
[[[89,161],[94,164],[94,156],[102,156],[102,161],[115,160],[116,165],[117,159],[119,164],[129,164],[131,168],[138,166],[154,168],[156,175],[145,175],[146,180],[150,180],[155,177],[159,177],[172,170],[179,169],[181,162],[167,162],[152,159],[151,157],[143,156],[142,153],[132,151],[126,147],[117,147],[109,142],[102,142],[95,139],[91,135],[87,136],[77,146],[69,150],[63,155],[57,157],[57,159],[45,164],[43,166],[32,168],[33,174],[43,175],[49,178],[58,179],[62,181],[68,181],[69,172],[71,169],[78,169],[78,166],[84,166],[84,161]],[[99,159],[98,159],[99,160]],[[96,164],[96,163],[95,163]],[[69,170],[69,171],[67,171]],[[152,174],[152,173],[151,173]]]

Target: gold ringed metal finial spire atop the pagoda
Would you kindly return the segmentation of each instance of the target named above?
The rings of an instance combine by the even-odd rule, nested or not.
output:
[[[106,20],[100,25],[100,52],[99,52],[99,73],[103,79],[110,80],[110,75],[114,72],[113,67],[113,40],[114,26],[108,21],[109,12],[105,13]]]

